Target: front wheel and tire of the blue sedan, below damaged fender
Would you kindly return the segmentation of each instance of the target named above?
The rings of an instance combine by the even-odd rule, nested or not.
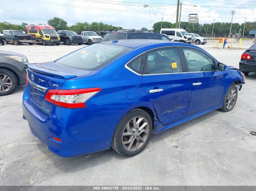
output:
[[[218,110],[223,112],[229,112],[233,110],[236,104],[237,95],[238,95],[237,87],[235,85],[231,85],[224,97],[222,107]]]

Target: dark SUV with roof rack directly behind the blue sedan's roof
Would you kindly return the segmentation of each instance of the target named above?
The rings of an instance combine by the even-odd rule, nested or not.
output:
[[[170,38],[165,34],[141,30],[116,30],[114,32],[106,33],[102,42],[121,39],[154,39],[171,41]]]

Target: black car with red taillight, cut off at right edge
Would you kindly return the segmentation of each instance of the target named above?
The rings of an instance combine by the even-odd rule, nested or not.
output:
[[[239,70],[248,76],[250,72],[256,72],[256,43],[245,50],[239,62]]]

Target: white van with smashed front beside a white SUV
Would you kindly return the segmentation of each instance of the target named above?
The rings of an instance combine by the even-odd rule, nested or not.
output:
[[[191,43],[192,37],[184,29],[167,29],[163,28],[160,30],[161,34],[166,34],[168,37],[173,38],[176,42]]]

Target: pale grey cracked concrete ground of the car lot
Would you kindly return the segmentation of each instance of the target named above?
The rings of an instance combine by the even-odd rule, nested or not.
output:
[[[238,68],[241,54],[252,43],[232,50],[215,44],[198,46]],[[9,44],[0,50],[24,54],[32,63],[84,46]],[[256,136],[250,135],[256,131],[256,73],[246,78],[231,112],[216,110],[152,135],[145,150],[132,158],[112,149],[73,158],[54,155],[22,119],[23,90],[0,97],[0,185],[256,185]]]

